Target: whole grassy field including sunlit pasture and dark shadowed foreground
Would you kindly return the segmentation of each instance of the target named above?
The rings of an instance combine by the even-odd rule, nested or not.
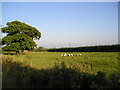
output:
[[[64,53],[3,55],[2,87],[100,89],[120,86],[118,52],[66,52],[74,56],[61,56]],[[77,53],[81,56],[75,56]]]

